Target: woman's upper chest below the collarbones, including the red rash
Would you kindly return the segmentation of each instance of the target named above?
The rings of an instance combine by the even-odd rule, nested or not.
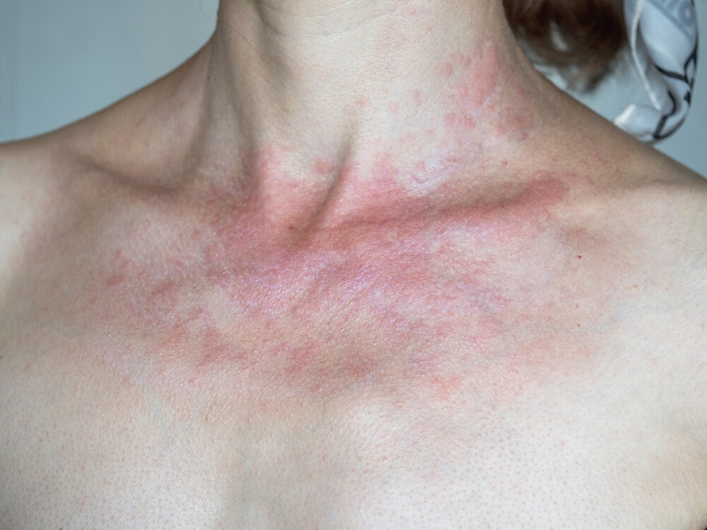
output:
[[[3,517],[699,529],[675,323],[564,200],[291,238],[204,205],[82,223],[4,310]]]

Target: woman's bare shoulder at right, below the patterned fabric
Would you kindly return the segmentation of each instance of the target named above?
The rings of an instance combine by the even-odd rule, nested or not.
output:
[[[620,132],[620,131],[619,131]],[[620,133],[616,138],[624,141]],[[651,146],[626,138],[592,171],[579,223],[674,282],[703,283],[707,270],[707,179]],[[673,278],[670,278],[673,281]],[[707,285],[705,285],[707,287]],[[707,302],[707,289],[702,288]],[[704,304],[707,317],[707,303]]]

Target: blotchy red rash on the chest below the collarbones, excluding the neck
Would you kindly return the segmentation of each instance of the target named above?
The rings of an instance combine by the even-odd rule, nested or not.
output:
[[[375,169],[395,173],[385,156]],[[494,204],[434,220],[373,216],[289,244],[269,242],[248,211],[199,208],[210,228],[171,242],[180,250],[170,266],[119,259],[124,280],[105,276],[105,290],[123,294],[132,328],[151,343],[139,365],[164,384],[228,377],[253,395],[297,396],[422,385],[454,399],[465,372],[489,369],[479,360],[506,363],[517,348],[504,331],[537,300],[508,290],[519,278],[506,255],[532,258],[532,241],[567,192],[539,174]]]

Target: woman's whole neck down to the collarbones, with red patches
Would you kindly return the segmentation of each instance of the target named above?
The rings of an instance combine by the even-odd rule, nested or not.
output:
[[[150,144],[287,225],[518,182],[552,99],[496,0],[222,0],[163,86]]]

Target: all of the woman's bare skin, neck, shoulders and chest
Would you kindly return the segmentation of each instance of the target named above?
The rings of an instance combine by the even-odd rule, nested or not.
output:
[[[707,526],[703,180],[493,0],[222,0],[0,146],[0,526]]]

